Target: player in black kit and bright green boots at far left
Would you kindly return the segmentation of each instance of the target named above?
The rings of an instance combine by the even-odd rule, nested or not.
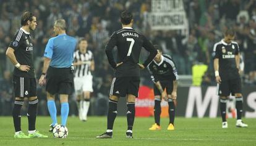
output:
[[[24,12],[21,17],[21,25],[10,43],[6,55],[15,65],[14,68],[14,92],[15,102],[12,111],[14,120],[15,138],[48,137],[36,131],[36,111],[38,98],[36,95],[36,80],[33,66],[33,44],[30,31],[36,28],[36,17],[31,12]],[[28,98],[28,136],[20,128],[20,108],[24,98]]]

